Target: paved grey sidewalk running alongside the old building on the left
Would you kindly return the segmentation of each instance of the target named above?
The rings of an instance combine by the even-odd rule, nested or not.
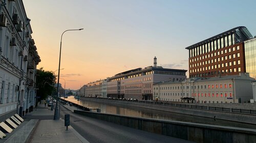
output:
[[[36,109],[28,113],[23,118],[25,121],[39,119],[34,125],[28,142],[88,142],[71,126],[64,126],[64,120],[53,120],[54,110],[51,107],[45,107],[45,104],[39,104]],[[26,123],[23,123],[26,124]],[[21,128],[22,129],[22,128]],[[16,133],[18,133],[17,131]],[[6,142],[17,142],[17,136],[22,136],[14,133]],[[24,140],[24,142],[26,139]]]

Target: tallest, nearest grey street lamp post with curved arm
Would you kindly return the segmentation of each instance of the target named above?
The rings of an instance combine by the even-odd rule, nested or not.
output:
[[[83,28],[77,29],[77,30],[66,30],[67,31],[80,31],[83,30]],[[57,81],[57,101],[56,101],[56,106],[55,106],[55,110],[54,110],[54,117],[53,120],[59,120],[59,109],[58,109],[58,100],[59,100],[59,71],[60,71],[60,57],[61,57],[61,43],[62,43],[62,36],[65,33],[63,32],[61,34],[61,38],[60,38],[60,49],[59,49],[59,68],[58,68],[58,81]]]

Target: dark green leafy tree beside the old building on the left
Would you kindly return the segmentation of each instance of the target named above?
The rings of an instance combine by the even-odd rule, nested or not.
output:
[[[40,97],[39,100],[46,99],[54,92],[56,75],[53,71],[45,71],[42,67],[36,70],[36,74],[37,97]]]

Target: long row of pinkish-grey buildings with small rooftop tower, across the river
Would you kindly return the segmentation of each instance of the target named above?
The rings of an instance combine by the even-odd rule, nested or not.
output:
[[[181,81],[186,79],[187,70],[166,69],[157,66],[137,68],[118,73],[107,79],[86,84],[86,96],[103,98],[126,98],[153,100],[153,84],[160,81]],[[99,90],[101,87],[101,91]],[[80,89],[81,90],[81,89]]]

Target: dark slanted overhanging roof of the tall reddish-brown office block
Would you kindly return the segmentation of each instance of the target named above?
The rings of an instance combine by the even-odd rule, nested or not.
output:
[[[193,48],[195,48],[197,46],[200,46],[202,44],[208,43],[210,41],[214,41],[214,40],[216,40],[216,39],[218,39],[220,37],[224,37],[224,36],[226,36],[228,34],[235,33],[236,31],[242,32],[243,36],[245,36],[245,37],[242,37],[242,36],[238,35],[238,38],[240,38],[238,40],[238,42],[243,42],[243,41],[246,41],[246,40],[252,38],[252,35],[250,34],[250,32],[247,30],[247,28],[245,26],[238,26],[238,27],[232,28],[231,30],[228,30],[226,32],[223,32],[223,33],[218,34],[216,36],[213,36],[211,38],[208,38],[208,39],[206,39],[204,41],[198,42],[198,43],[196,43],[194,45],[188,46],[185,49],[193,49]]]

